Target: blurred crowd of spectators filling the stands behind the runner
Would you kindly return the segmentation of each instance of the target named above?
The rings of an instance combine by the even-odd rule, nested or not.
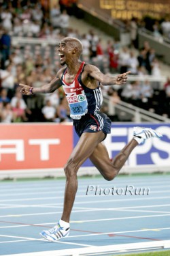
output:
[[[61,0],[47,12],[40,1],[3,1],[0,9],[0,121],[10,122],[70,122],[69,106],[60,88],[53,94],[22,96],[18,83],[39,87],[49,83],[61,68],[57,47],[53,44],[12,44],[16,37],[54,39],[65,36],[79,38],[84,46],[82,60],[98,66],[104,73],[122,73],[160,78],[159,61],[148,42],[140,51],[132,23],[131,46],[108,40],[105,44],[95,31],[80,34],[69,27],[71,15],[78,14],[75,0]],[[143,109],[170,117],[170,79],[163,90],[160,83],[133,81],[115,91],[102,87],[103,94],[112,96],[113,103],[131,102]],[[159,104],[159,97],[163,104]],[[107,108],[103,108],[107,113]]]

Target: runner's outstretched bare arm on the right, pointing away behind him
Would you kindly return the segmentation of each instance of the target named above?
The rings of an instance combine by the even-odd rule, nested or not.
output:
[[[93,65],[88,65],[86,71],[89,76],[102,83],[102,85],[124,85],[127,81],[127,75],[131,73],[131,71],[129,71],[118,74],[118,76],[111,76],[110,74],[103,74],[99,68]]]

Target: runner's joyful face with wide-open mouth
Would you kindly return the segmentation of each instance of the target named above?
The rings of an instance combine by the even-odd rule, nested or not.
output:
[[[59,44],[58,55],[60,56],[60,62],[62,66],[64,66],[65,63],[67,63],[67,60],[69,60],[72,57],[72,54],[71,54],[72,52],[73,52],[73,46],[71,45],[70,42],[62,41]]]

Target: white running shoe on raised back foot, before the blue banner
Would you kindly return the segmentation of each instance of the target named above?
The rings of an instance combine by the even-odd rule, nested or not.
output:
[[[163,135],[160,134],[159,132],[156,132],[156,130],[153,130],[152,128],[134,127],[133,137],[140,144],[146,139],[150,139],[152,137],[160,138],[163,137]]]

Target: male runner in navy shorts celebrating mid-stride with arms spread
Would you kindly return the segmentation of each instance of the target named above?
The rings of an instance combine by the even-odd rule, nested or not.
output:
[[[64,167],[66,175],[65,200],[61,219],[54,228],[40,234],[47,240],[56,241],[69,235],[69,218],[78,188],[77,172],[82,163],[90,158],[106,180],[113,180],[132,150],[150,137],[161,137],[151,128],[134,128],[133,139],[111,161],[102,141],[110,133],[111,120],[100,113],[102,85],[123,85],[127,74],[116,77],[103,74],[100,70],[80,60],[82,43],[77,38],[64,38],[59,44],[58,55],[61,65],[56,77],[47,85],[30,87],[20,84],[22,94],[52,93],[63,85],[70,108],[73,126],[80,140]],[[65,66],[66,65],[66,66]]]

